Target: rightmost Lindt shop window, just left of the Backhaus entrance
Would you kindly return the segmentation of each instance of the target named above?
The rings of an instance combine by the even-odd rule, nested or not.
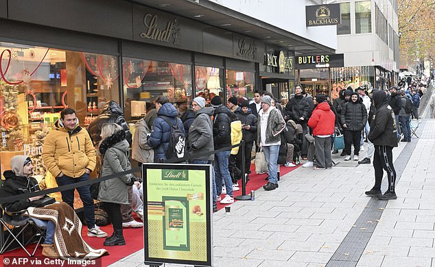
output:
[[[255,92],[255,73],[249,71],[226,71],[226,98],[246,97],[252,99]],[[223,103],[223,102],[222,102]]]

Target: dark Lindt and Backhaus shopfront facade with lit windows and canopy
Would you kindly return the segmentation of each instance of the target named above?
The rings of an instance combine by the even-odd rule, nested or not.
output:
[[[303,20],[312,3],[258,2],[263,10],[295,8],[294,18],[280,18],[287,22]],[[295,53],[333,53],[335,44],[313,38],[318,29],[264,22],[248,6],[243,12],[198,0],[0,0],[1,170],[25,154],[36,175],[46,175],[43,138],[65,107],[86,127],[110,100],[133,124],[162,95],[176,105],[204,93],[226,103],[267,88],[287,99]]]

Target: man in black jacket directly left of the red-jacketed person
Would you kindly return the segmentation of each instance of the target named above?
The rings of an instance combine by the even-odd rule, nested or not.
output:
[[[307,121],[309,119],[309,103],[305,97],[303,97],[303,88],[301,85],[297,85],[294,88],[296,94],[285,105],[285,118],[286,120],[294,120],[296,124],[300,124],[303,129],[303,136],[308,133]],[[308,142],[303,138],[303,144],[301,149],[302,157],[306,160],[308,153]]]

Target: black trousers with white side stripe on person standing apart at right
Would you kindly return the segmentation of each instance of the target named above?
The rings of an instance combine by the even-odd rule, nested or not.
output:
[[[375,168],[375,186],[373,189],[381,190],[382,177],[384,170],[386,170],[388,191],[395,192],[396,170],[395,166],[392,165],[392,147],[375,145],[373,167]]]

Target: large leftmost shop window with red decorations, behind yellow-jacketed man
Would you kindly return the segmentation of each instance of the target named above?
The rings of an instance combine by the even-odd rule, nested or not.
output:
[[[0,42],[0,62],[1,170],[14,155],[29,155],[34,176],[44,177],[40,154],[60,111],[73,108],[86,127],[107,101],[119,101],[113,55]]]

